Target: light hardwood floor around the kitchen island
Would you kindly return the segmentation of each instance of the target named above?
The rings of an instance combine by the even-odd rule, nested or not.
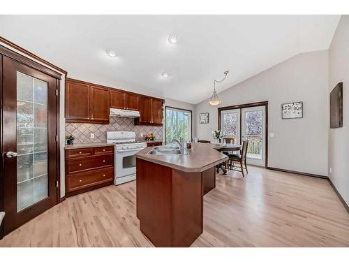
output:
[[[349,214],[327,180],[249,167],[217,175],[192,247],[349,247]],[[135,182],[67,198],[1,247],[152,247],[135,216]]]

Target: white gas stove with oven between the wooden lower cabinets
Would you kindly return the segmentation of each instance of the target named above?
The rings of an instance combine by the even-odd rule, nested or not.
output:
[[[107,143],[113,143],[114,154],[114,184],[122,184],[135,180],[135,153],[147,147],[145,142],[136,142],[135,132],[107,132]]]

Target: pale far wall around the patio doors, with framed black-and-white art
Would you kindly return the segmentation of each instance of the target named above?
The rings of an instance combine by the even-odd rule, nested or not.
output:
[[[230,75],[233,75],[231,72]],[[230,76],[231,77],[231,76]],[[220,107],[269,101],[268,166],[327,175],[328,50],[298,54],[218,94]],[[212,87],[213,88],[213,87]],[[281,119],[281,103],[303,101],[302,119]],[[196,136],[212,140],[218,110],[208,100],[195,107]],[[209,112],[209,124],[199,124]]]

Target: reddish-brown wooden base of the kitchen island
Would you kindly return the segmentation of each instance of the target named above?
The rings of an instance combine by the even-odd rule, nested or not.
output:
[[[215,187],[215,169],[186,173],[136,160],[140,231],[156,247],[189,247],[202,233],[203,195]]]

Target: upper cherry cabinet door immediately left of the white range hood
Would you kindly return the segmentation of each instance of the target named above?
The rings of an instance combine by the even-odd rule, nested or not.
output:
[[[93,122],[109,122],[110,91],[103,87],[90,87],[90,119]]]

